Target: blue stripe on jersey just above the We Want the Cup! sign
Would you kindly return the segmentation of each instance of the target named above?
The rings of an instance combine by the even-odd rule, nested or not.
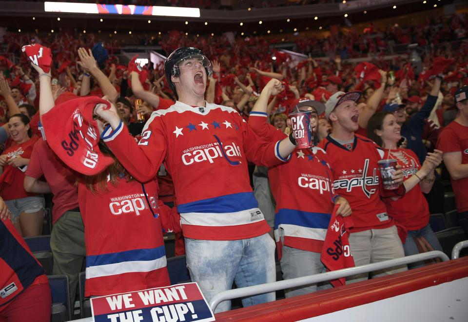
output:
[[[118,253],[89,255],[86,257],[86,267],[120,262],[153,261],[163,257],[164,255],[166,255],[164,245],[156,248],[132,249]]]

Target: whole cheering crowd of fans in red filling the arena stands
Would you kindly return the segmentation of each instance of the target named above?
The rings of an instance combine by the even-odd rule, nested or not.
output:
[[[457,28],[463,19],[453,19]],[[429,225],[442,161],[468,232],[468,42],[458,34],[456,46],[419,63],[352,62],[354,45],[342,41],[326,49],[331,59],[297,60],[261,38],[191,46],[174,33],[161,43],[164,65],[134,57],[122,66],[117,47],[93,36],[9,42],[20,60],[0,57],[0,228],[21,255],[1,264],[11,273],[1,286],[18,276],[21,287],[2,297],[0,317],[39,321],[37,308],[24,310],[31,297],[44,298],[39,311],[50,315],[43,272],[21,239],[41,234],[47,193],[53,270],[70,277],[72,302],[85,258],[86,296],[169,285],[168,231],[208,301],[233,282],[275,281],[275,252],[290,279],[416,254],[420,244],[442,250]],[[297,45],[307,53],[314,41]],[[367,45],[356,51],[379,50]],[[292,112],[311,114],[311,148],[296,148]],[[384,159],[398,163],[394,189],[382,184]]]

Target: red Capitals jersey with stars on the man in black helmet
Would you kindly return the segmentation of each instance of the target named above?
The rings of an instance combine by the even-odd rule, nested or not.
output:
[[[111,131],[102,139],[137,180],[152,179],[165,161],[185,237],[239,240],[270,230],[250,186],[247,160],[272,166],[285,159],[277,154],[279,141],[256,136],[234,109],[176,101],[153,112],[138,143],[125,126]]]

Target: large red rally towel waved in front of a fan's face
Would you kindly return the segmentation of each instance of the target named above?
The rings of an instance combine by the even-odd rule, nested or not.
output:
[[[114,162],[98,147],[98,123],[93,120],[97,104],[110,103],[98,97],[83,97],[55,105],[41,116],[51,149],[69,167],[84,175],[95,175]]]

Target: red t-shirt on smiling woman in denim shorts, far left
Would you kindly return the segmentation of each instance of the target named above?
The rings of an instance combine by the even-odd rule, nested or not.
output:
[[[37,141],[38,137],[32,137],[20,145],[13,141],[11,146],[3,151],[1,155],[6,154],[7,160],[16,157],[30,159],[33,146]],[[0,195],[4,200],[14,200],[37,195],[24,191],[24,172],[20,168],[5,165],[3,166],[3,174],[0,178]]]

